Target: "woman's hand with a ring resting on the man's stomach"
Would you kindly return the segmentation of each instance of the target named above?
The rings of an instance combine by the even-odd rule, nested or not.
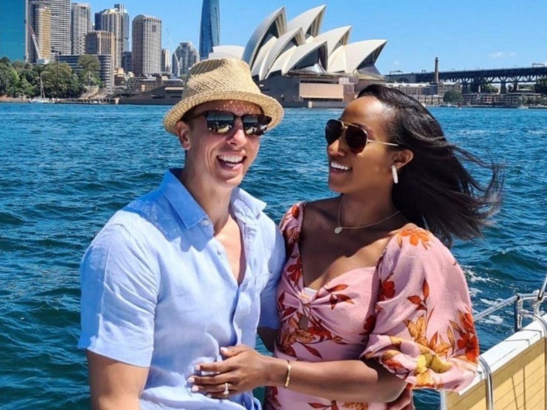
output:
[[[283,373],[284,361],[263,356],[246,345],[220,348],[226,357],[222,362],[201,363],[196,366],[201,372],[217,373],[211,376],[191,376],[192,391],[199,391],[215,399],[241,394],[274,380],[277,373]],[[276,366],[277,365],[277,366]],[[281,376],[283,378],[284,376]],[[228,383],[228,394],[224,394]]]

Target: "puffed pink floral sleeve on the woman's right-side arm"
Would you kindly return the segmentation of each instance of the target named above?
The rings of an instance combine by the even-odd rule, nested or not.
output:
[[[479,355],[469,291],[450,251],[427,230],[406,229],[379,263],[376,319],[362,355],[414,388],[459,390]]]

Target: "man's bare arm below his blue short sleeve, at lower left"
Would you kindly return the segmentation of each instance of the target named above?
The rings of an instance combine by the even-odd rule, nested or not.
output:
[[[127,365],[86,350],[93,410],[139,410],[148,367]]]

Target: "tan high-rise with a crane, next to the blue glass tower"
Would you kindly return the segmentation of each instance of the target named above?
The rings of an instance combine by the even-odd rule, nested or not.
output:
[[[44,63],[51,59],[51,9],[36,0],[28,4],[28,50],[31,62]]]

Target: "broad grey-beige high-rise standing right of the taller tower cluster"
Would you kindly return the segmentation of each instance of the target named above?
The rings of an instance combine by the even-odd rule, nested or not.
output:
[[[132,26],[132,68],[136,76],[161,72],[161,20],[139,14]]]

